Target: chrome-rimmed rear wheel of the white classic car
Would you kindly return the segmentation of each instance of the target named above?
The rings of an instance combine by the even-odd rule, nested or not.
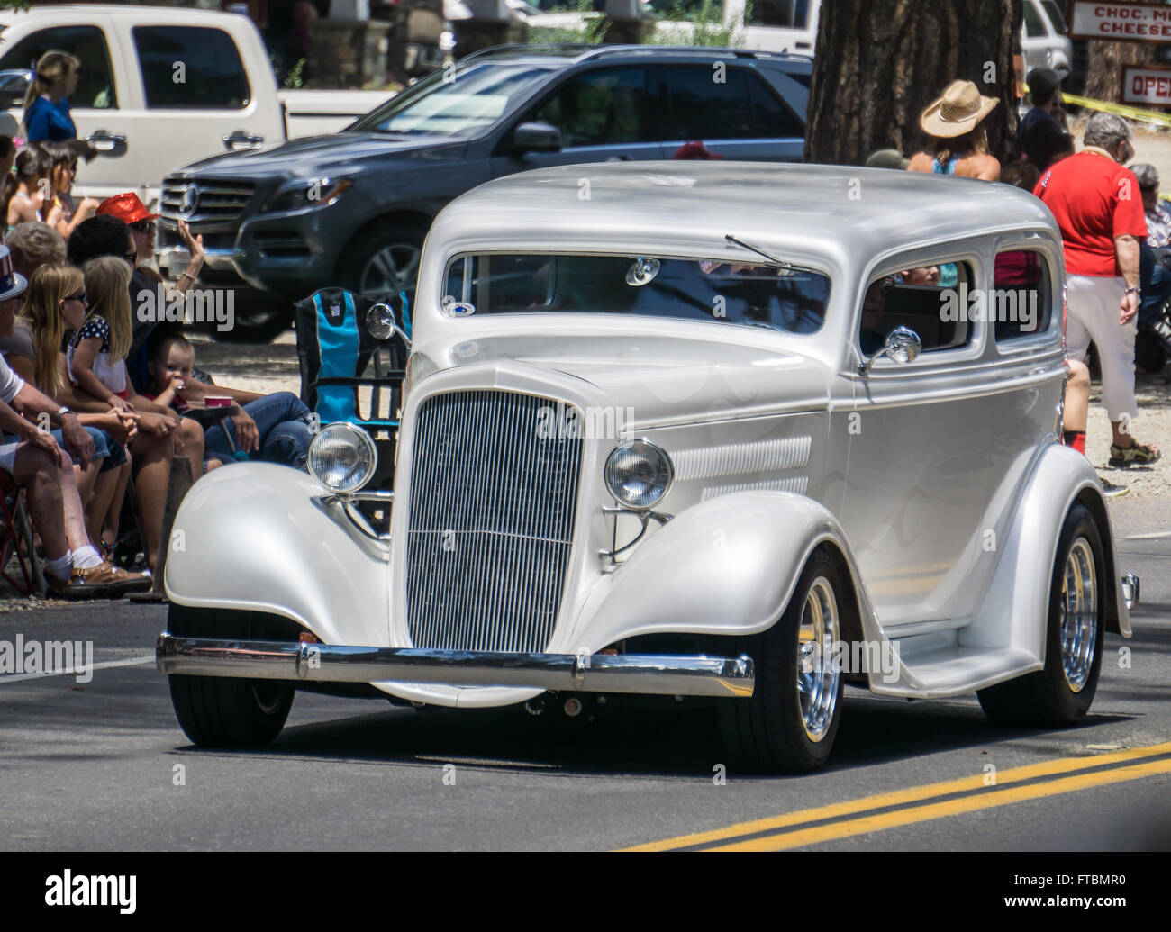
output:
[[[1066,515],[1049,588],[1045,669],[980,690],[997,725],[1059,728],[1089,712],[1102,671],[1102,536],[1084,505]]]

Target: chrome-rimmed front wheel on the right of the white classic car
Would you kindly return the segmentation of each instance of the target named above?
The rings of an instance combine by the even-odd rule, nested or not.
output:
[[[751,699],[719,703],[724,742],[741,767],[804,773],[829,758],[842,717],[841,574],[819,549],[806,564],[785,614],[767,631],[746,638],[756,666]]]

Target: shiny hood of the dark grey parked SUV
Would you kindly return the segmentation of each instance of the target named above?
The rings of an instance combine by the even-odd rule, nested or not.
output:
[[[431,160],[463,152],[466,141],[451,136],[389,136],[370,132],[335,132],[309,136],[245,152],[225,152],[176,172],[182,177],[265,180],[285,176],[309,178],[363,170],[388,159]],[[456,150],[456,152],[452,152]]]

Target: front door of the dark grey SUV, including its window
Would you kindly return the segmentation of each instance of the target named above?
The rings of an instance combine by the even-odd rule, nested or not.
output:
[[[529,169],[586,162],[663,158],[656,122],[657,88],[642,66],[577,71],[526,108],[501,137],[492,159],[499,178]],[[509,151],[521,123],[547,123],[561,132],[559,152]]]

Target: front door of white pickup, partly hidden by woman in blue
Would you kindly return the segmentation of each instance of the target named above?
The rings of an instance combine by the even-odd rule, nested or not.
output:
[[[67,19],[62,14],[61,19]],[[93,162],[82,163],[74,183],[75,192],[108,198],[133,190],[138,179],[138,148],[131,145],[129,114],[133,107],[124,68],[112,62],[125,61],[117,37],[110,33],[110,18],[87,13],[84,23],[60,23],[33,29],[18,37],[18,22],[5,30],[8,48],[0,56],[0,70],[30,69],[49,49],[68,52],[81,62],[77,90],[69,100],[69,111],[77,136],[107,150]],[[18,123],[23,108],[9,111]]]

